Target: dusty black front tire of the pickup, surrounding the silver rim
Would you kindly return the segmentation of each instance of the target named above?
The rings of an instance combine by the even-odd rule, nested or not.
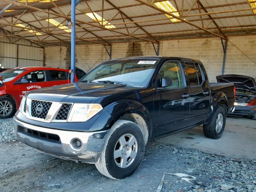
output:
[[[130,165],[127,164],[128,166],[125,164],[125,166],[127,167],[121,168],[117,164],[118,158],[116,159],[114,158],[114,150],[116,150],[116,146],[120,138],[127,134],[130,134],[136,138],[137,154],[134,159],[128,157],[128,160],[126,163],[129,164],[129,160],[131,160],[132,161],[130,162],[131,164]],[[122,148],[122,145],[120,145],[120,149],[121,148]],[[144,150],[145,150],[144,136],[139,126],[131,121],[118,120],[108,132],[106,136],[104,149],[100,156],[100,162],[96,163],[95,166],[100,173],[102,173],[103,175],[109,178],[122,179],[136,172],[136,170],[140,166],[140,163],[142,162],[142,158],[144,156]],[[121,164],[121,161],[120,161],[120,164]]]

